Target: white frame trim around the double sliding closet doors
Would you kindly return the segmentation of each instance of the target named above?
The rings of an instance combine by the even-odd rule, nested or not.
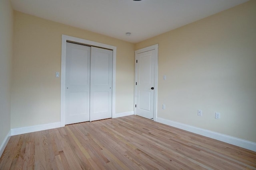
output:
[[[81,43],[84,45],[95,46],[105,49],[113,50],[113,67],[112,67],[112,116],[116,113],[116,47],[95,41],[81,39],[77,37],[71,37],[62,34],[62,45],[61,45],[61,74],[60,74],[60,127],[65,126],[65,107],[66,107],[66,43],[72,41]]]

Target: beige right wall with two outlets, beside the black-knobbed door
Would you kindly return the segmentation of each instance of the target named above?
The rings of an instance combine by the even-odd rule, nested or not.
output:
[[[158,117],[256,142],[256,1],[137,43],[135,49],[157,43]],[[214,119],[215,112],[220,119]]]

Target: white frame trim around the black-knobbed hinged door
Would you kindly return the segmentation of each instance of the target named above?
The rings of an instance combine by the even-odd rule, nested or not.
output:
[[[136,86],[136,81],[137,81],[137,64],[136,64],[136,56],[139,53],[143,53],[146,51],[151,51],[151,50],[156,50],[156,63],[155,63],[155,70],[154,70],[154,75],[155,75],[155,81],[154,81],[154,120],[156,121],[156,116],[157,116],[157,84],[158,84],[158,44],[152,45],[149,47],[145,47],[143,49],[138,49],[134,51],[134,115],[136,115],[136,91],[137,91],[137,86]]]

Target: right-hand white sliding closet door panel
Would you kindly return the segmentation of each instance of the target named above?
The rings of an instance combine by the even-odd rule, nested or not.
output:
[[[90,121],[112,117],[112,50],[91,47]]]

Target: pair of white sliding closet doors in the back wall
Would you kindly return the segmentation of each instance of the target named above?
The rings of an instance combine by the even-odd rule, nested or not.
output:
[[[66,43],[66,125],[112,117],[112,60],[112,50]]]

